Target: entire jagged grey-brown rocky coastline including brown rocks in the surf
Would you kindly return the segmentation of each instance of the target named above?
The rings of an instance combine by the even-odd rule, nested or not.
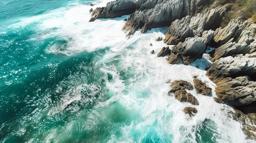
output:
[[[164,43],[175,46],[163,47],[157,54],[168,56],[169,64],[189,65],[202,58],[208,47],[215,48],[211,53],[212,64],[206,69],[217,86],[215,101],[236,108],[233,119],[241,121],[245,134],[256,139],[256,129],[245,123],[248,119],[256,125],[256,24],[238,17],[221,27],[232,9],[232,4],[211,0],[116,0],[94,9],[90,21],[130,14],[123,26],[129,36],[138,29],[145,33],[155,27],[169,26]],[[202,95],[211,92],[199,79],[194,79],[194,86]],[[193,88],[191,83],[173,81],[171,88],[168,94],[173,92],[179,101],[199,104],[186,92]],[[184,112],[193,117],[197,111],[191,107]]]

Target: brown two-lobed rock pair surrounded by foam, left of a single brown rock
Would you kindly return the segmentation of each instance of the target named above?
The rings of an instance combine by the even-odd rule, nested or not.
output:
[[[188,81],[175,80],[172,82],[171,88],[172,89],[168,92],[168,95],[170,95],[171,92],[174,92],[174,97],[180,102],[188,102],[193,105],[199,105],[198,100],[185,90],[193,89],[192,84],[190,84]]]

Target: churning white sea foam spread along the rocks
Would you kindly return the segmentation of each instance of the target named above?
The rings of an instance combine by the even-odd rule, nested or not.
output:
[[[107,1],[104,2],[101,4],[104,5]],[[94,7],[101,4],[99,2]],[[60,8],[47,14],[23,19],[20,23],[11,26],[25,26],[35,22],[38,23],[35,26],[37,33],[29,39],[30,41],[55,37],[57,40],[67,41],[66,46],[50,43],[45,49],[47,53],[72,55],[83,51],[92,52],[101,48],[110,48],[106,55],[97,61],[97,65],[101,66],[103,73],[112,75],[112,81],[106,84],[114,94],[107,101],[94,106],[93,112],[100,114],[101,110],[97,109],[108,108],[111,103],[118,101],[127,110],[139,112],[139,117],[135,117],[129,125],[121,125],[122,137],[112,135],[109,142],[132,142],[134,141],[132,134],[136,131],[141,134],[137,137],[137,141],[142,142],[151,130],[156,131],[157,136],[165,141],[174,143],[187,139],[195,141],[195,128],[205,119],[216,123],[221,137],[217,142],[246,142],[240,123],[230,119],[227,115],[233,109],[213,101],[213,97],[216,97],[214,92],[216,85],[203,70],[207,66],[206,59],[197,60],[189,66],[168,64],[166,57],[156,56],[156,53],[167,45],[163,41],[155,41],[157,37],[164,37],[162,32],[167,31],[166,27],[152,29],[144,34],[137,31],[127,39],[125,36],[127,33],[121,29],[124,25],[123,20],[128,18],[128,15],[88,22],[90,8],[85,5]],[[153,46],[150,46],[150,43]],[[155,54],[151,55],[151,50],[155,50]],[[126,74],[127,79],[120,76],[121,72]],[[183,79],[193,83],[193,75],[206,82],[213,91],[211,96],[198,95],[195,90],[188,91],[198,99],[199,106],[180,103],[174,97],[167,95],[168,90],[171,89],[170,81]],[[72,87],[66,95],[62,95],[61,102],[49,110],[47,115],[53,116],[64,110],[72,101],[81,100],[81,90],[90,89],[93,95],[99,91],[98,88],[94,84]],[[198,113],[195,117],[191,118],[184,114],[183,109],[188,106],[197,108]],[[54,130],[52,132],[55,134]],[[189,134],[191,137],[186,137]],[[52,139],[52,136],[47,136],[48,139]]]

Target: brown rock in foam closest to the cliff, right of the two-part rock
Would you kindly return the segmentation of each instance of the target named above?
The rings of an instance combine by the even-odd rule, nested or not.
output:
[[[193,79],[194,87],[197,93],[201,95],[209,95],[211,93],[211,88],[209,88],[205,83],[199,79]]]

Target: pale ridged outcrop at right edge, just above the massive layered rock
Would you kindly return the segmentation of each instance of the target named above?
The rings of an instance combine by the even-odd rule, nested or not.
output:
[[[249,21],[243,22],[240,18],[231,20],[223,29],[216,29],[212,44],[218,48],[216,48],[212,61],[220,57],[255,52],[255,33],[256,24]]]

